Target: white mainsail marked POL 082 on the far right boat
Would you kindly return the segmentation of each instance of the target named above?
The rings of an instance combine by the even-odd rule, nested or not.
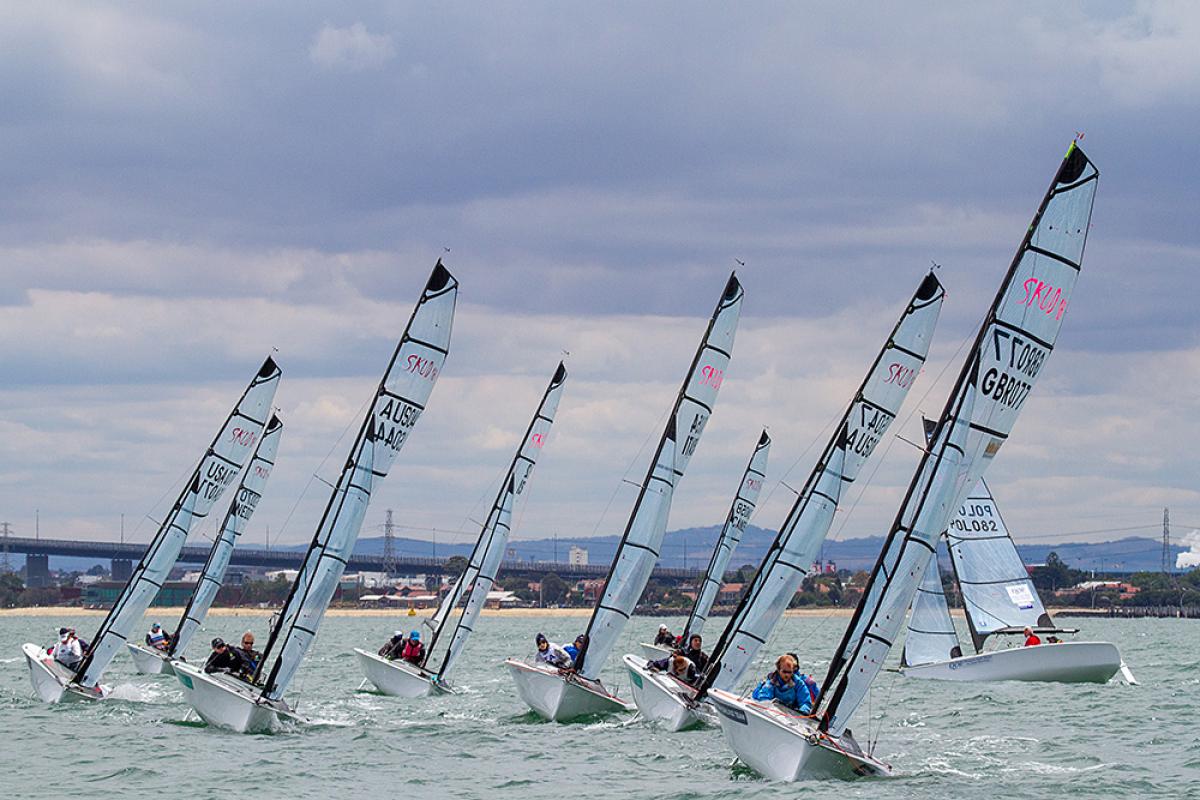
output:
[[[977,652],[988,636],[1001,630],[1054,628],[983,479],[946,536]]]

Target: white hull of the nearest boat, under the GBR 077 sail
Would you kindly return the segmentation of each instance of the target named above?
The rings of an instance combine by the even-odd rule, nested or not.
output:
[[[750,769],[773,781],[887,777],[892,768],[862,752],[853,738],[830,738],[816,720],[714,688],[725,740]]]

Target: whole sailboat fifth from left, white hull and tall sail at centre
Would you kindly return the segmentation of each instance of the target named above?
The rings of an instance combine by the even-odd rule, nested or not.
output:
[[[634,708],[604,686],[600,670],[632,615],[659,559],[676,485],[696,451],[713,413],[718,390],[725,380],[744,296],[737,275],[731,275],[642,480],[637,501],[608,567],[604,593],[592,610],[587,644],[574,668],[560,670],[546,663],[527,663],[517,658],[504,662],[521,699],[546,720],[568,722],[581,716]]]

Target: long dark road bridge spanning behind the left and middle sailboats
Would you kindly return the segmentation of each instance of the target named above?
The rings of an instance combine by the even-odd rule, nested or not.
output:
[[[23,536],[8,536],[0,539],[0,549],[6,553],[23,553],[25,555],[25,576],[29,585],[46,585],[49,582],[49,557],[68,555],[72,558],[94,558],[108,560],[112,566],[113,578],[122,581],[130,576],[132,565],[140,560],[146,546],[126,542],[94,542],[76,541],[68,539],[29,539]],[[179,554],[180,564],[203,565],[209,557],[209,545],[185,546]],[[258,567],[268,570],[296,570],[304,558],[304,551],[265,549],[251,547],[235,547],[230,565]],[[433,573],[442,575],[446,571],[446,563],[454,557],[424,558],[413,555],[397,555],[388,564],[383,555],[367,555],[354,553],[346,564],[348,570],[358,572],[388,572],[415,575]],[[564,564],[562,561],[518,561],[506,560],[500,569],[508,575],[516,576],[540,576],[553,572],[559,577],[582,581],[587,578],[604,578],[608,575],[608,565],[600,564]],[[653,578],[674,583],[700,576],[698,570],[685,570],[680,567],[655,566]]]

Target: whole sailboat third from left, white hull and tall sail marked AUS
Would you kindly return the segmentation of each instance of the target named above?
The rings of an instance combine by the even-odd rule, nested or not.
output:
[[[457,295],[458,282],[439,260],[354,438],[252,680],[172,662],[185,698],[209,724],[252,733],[270,730],[281,720],[299,720],[283,694],[317,638],[376,482],[386,477],[442,374]]]

